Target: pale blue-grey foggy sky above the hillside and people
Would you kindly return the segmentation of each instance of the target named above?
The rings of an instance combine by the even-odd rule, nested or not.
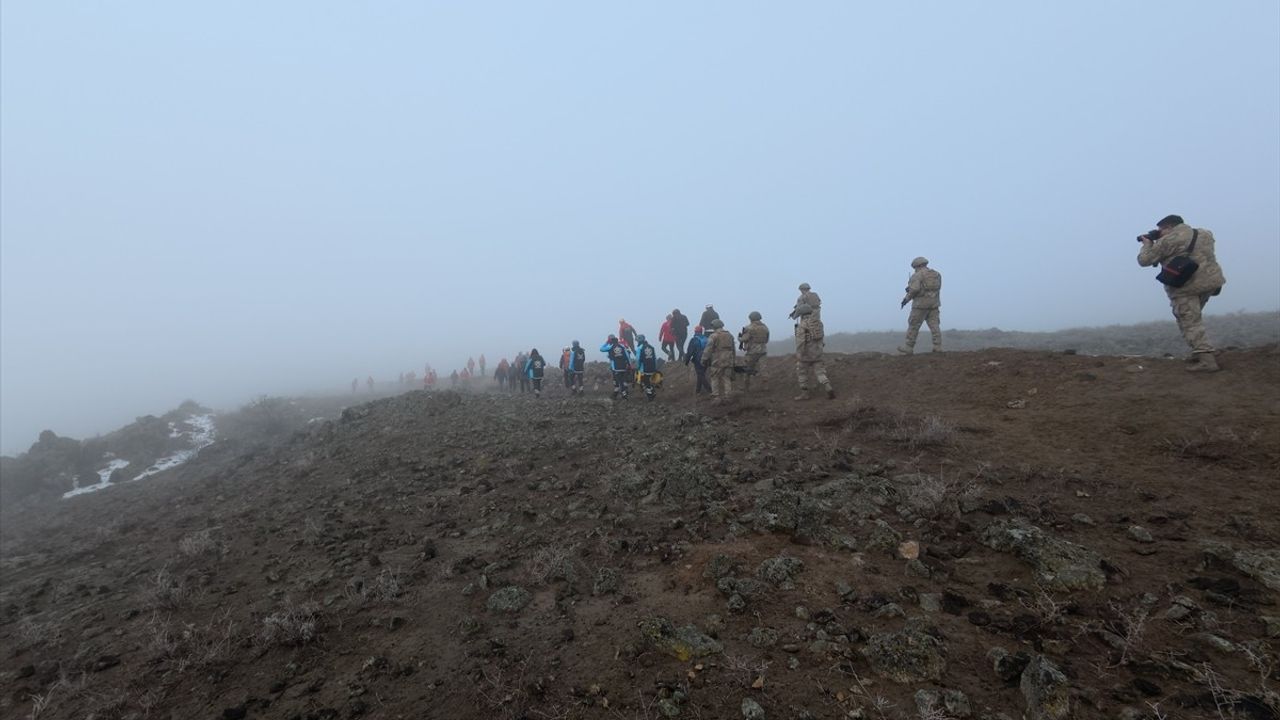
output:
[[[969,6],[973,5],[973,6]],[[0,450],[468,355],[1280,305],[1280,5],[0,5]]]

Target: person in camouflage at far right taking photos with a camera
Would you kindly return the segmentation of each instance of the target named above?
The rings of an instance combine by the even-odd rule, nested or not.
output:
[[[1138,264],[1143,268],[1160,266],[1156,279],[1165,286],[1178,329],[1192,348],[1187,369],[1193,373],[1217,372],[1213,346],[1208,342],[1201,316],[1208,299],[1222,292],[1226,283],[1213,254],[1213,233],[1192,228],[1179,215],[1166,215],[1156,223],[1156,229],[1139,234],[1138,242],[1142,243]]]

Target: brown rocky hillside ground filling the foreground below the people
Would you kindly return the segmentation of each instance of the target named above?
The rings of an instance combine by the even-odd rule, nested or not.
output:
[[[835,355],[794,402],[771,359],[722,406],[673,368],[227,438],[3,516],[0,715],[1275,717],[1280,354],[1221,364]]]

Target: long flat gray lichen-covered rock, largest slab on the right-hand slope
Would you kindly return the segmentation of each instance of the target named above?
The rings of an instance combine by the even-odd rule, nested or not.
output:
[[[992,550],[1010,552],[1036,570],[1037,579],[1055,589],[1101,589],[1107,582],[1102,556],[1073,542],[1056,538],[1030,523],[996,520],[982,532]]]

